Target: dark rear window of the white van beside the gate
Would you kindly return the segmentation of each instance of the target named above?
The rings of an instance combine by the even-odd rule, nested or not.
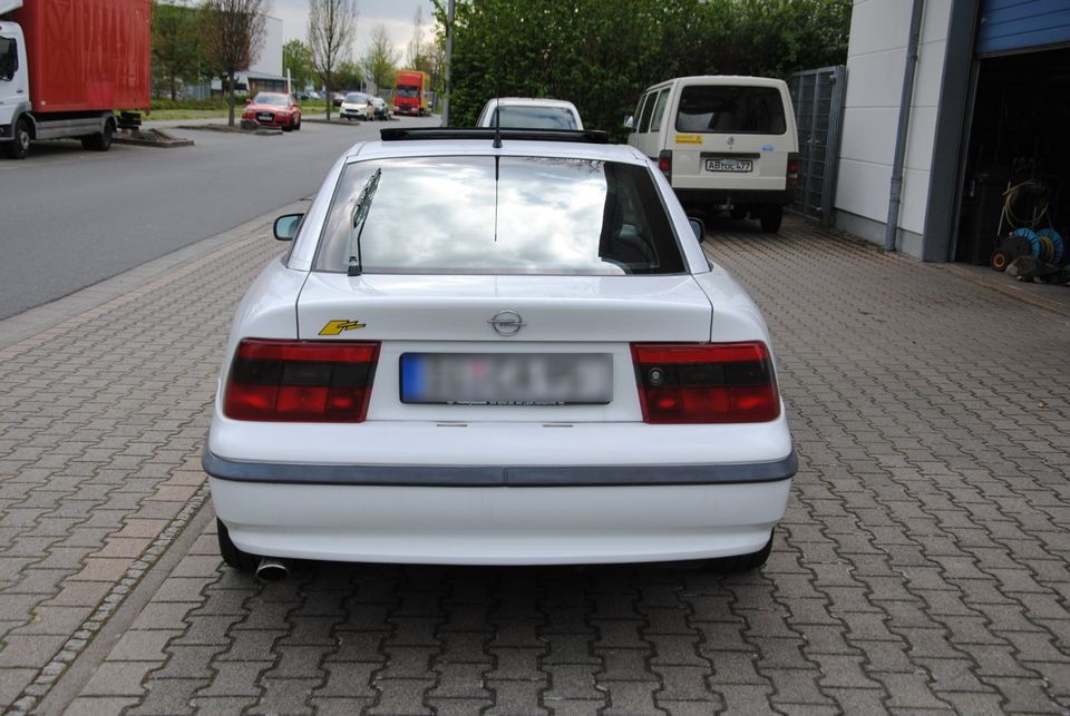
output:
[[[787,124],[780,90],[738,85],[684,87],[677,131],[782,135]]]

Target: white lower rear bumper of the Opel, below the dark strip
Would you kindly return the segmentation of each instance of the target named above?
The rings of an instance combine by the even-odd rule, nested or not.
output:
[[[568,565],[760,550],[790,480],[629,487],[264,484],[210,479],[251,555],[353,562]]]

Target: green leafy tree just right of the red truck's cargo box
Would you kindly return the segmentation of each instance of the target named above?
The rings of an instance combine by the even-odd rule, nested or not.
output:
[[[201,60],[197,13],[184,0],[153,0],[153,87],[172,101],[183,84],[196,79]]]

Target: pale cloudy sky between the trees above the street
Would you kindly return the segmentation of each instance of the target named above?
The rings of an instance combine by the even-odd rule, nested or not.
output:
[[[273,0],[272,16],[282,20],[282,41],[305,40],[309,21],[308,0]],[[435,30],[435,16],[431,0],[357,0],[357,39],[353,42],[353,59],[363,57],[368,50],[372,28],[380,22],[387,28],[387,36],[393,42],[393,49],[401,53],[402,61],[412,40],[412,19],[416,9],[424,9],[424,33],[431,38]]]

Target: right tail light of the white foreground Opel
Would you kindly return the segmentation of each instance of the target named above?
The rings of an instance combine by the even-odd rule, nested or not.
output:
[[[634,343],[648,423],[758,423],[780,415],[765,343]]]

